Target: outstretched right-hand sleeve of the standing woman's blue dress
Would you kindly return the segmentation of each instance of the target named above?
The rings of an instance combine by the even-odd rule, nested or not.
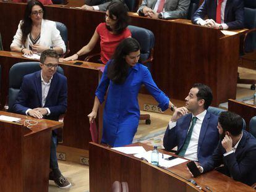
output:
[[[158,88],[148,69],[145,69],[143,73],[142,83],[159,103],[158,107],[160,107],[162,111],[166,111],[166,109],[169,107],[169,98],[166,96],[166,94],[163,93],[163,91]]]

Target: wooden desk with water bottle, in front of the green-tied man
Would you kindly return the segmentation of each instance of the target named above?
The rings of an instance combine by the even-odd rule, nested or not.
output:
[[[143,146],[147,151],[152,149],[142,143],[133,145]],[[187,162],[170,167],[168,170],[173,172],[171,173],[141,161],[132,155],[115,151],[100,144],[90,143],[89,150],[90,191],[92,192],[111,191],[114,181],[127,182],[129,191],[133,192],[202,191],[192,185],[192,183],[187,182],[191,178],[187,171]],[[170,154],[166,151],[164,153]],[[204,173],[194,178],[194,180],[202,187],[203,191],[208,191],[205,186],[210,187],[211,191],[255,191],[250,186],[236,182],[215,170]]]

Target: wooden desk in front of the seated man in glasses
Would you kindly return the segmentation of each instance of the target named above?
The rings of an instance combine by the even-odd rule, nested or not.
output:
[[[1,191],[48,191],[51,130],[63,123],[0,111],[0,115],[31,119],[31,128],[0,120]]]

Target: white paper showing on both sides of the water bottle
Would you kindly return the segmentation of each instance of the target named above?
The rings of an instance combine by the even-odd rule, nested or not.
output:
[[[143,157],[143,158],[147,159],[148,162],[151,162],[151,153],[152,153],[152,151],[147,151],[144,153],[135,154],[134,156],[138,157],[138,158]],[[183,162],[187,161],[186,159],[181,159],[181,158],[176,158],[173,160],[166,160],[166,158],[168,158],[168,157],[171,157],[171,156],[164,154],[164,156],[162,157],[162,153],[161,152],[159,153],[159,165],[161,167],[166,167],[166,168],[173,167],[174,165],[182,164]]]

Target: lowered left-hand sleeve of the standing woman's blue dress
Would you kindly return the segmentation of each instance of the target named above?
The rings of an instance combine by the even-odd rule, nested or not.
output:
[[[95,92],[95,96],[99,99],[100,103],[102,103],[104,101],[104,96],[106,94],[106,90],[108,90],[108,85],[109,85],[109,78],[108,78],[108,74],[107,74],[108,64],[109,64],[109,62],[105,66],[100,83]]]

